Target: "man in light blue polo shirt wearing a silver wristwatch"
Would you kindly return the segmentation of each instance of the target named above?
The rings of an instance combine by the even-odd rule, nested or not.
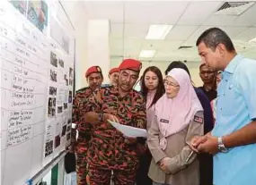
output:
[[[223,71],[217,89],[216,125],[191,147],[214,156],[215,185],[256,184],[256,61],[237,55],[231,39],[217,28],[197,41],[199,55]]]

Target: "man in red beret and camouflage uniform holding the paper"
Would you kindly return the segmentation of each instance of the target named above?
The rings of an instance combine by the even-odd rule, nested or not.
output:
[[[86,158],[90,185],[110,184],[111,180],[115,185],[135,184],[145,140],[125,137],[108,121],[146,129],[146,102],[133,89],[141,65],[135,59],[124,60],[119,65],[118,85],[95,90],[81,104],[84,120],[93,127]]]

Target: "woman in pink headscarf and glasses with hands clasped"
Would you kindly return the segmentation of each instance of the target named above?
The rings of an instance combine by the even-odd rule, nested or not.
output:
[[[203,134],[203,108],[186,71],[170,71],[164,88],[148,130],[153,156],[148,176],[154,184],[199,185],[199,162],[188,143]]]

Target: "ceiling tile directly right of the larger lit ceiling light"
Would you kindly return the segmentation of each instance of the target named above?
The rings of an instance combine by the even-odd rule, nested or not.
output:
[[[169,32],[165,39],[187,40],[190,35],[198,28],[198,26],[179,26],[176,25]]]

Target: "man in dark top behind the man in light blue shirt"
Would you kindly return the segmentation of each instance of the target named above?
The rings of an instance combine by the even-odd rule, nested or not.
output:
[[[206,63],[199,67],[199,75],[204,85],[199,87],[208,97],[209,101],[216,98],[216,71],[213,71]]]

